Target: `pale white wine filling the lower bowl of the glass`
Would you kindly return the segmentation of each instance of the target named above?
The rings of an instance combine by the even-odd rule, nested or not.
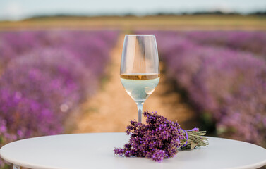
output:
[[[159,83],[159,74],[132,73],[120,75],[121,83],[134,101],[143,102]]]

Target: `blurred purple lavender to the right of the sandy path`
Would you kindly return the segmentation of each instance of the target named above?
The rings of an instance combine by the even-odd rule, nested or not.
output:
[[[167,75],[220,137],[266,146],[266,32],[155,34]]]

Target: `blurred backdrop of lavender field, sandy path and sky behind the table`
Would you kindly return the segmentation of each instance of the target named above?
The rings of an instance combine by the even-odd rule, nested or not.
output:
[[[265,31],[265,0],[0,0],[0,146],[124,132],[138,114],[123,37],[154,34],[161,79],[143,110],[266,147]]]

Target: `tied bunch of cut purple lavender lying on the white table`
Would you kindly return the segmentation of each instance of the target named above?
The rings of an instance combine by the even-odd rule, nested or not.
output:
[[[207,146],[207,138],[202,137],[205,131],[183,130],[179,123],[172,122],[156,112],[145,111],[146,124],[131,120],[126,129],[130,134],[129,142],[124,148],[114,148],[114,154],[119,156],[136,156],[152,158],[162,162],[164,158],[174,157],[178,149],[194,149],[197,146]]]

